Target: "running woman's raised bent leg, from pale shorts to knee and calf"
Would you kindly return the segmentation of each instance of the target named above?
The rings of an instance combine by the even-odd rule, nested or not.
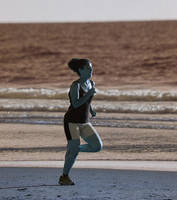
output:
[[[98,152],[102,150],[101,138],[91,123],[80,126],[80,135],[87,142],[87,144],[80,145],[80,152]]]

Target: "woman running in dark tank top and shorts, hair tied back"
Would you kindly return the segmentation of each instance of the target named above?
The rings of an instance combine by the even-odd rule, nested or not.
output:
[[[76,72],[79,79],[70,87],[70,106],[64,116],[64,130],[67,138],[67,151],[63,174],[59,178],[60,185],[74,185],[69,177],[69,172],[79,152],[98,152],[103,144],[97,131],[89,121],[89,113],[92,117],[96,112],[92,109],[91,100],[95,95],[92,78],[92,64],[88,59],[73,58],[68,67]],[[80,137],[86,144],[80,145]]]

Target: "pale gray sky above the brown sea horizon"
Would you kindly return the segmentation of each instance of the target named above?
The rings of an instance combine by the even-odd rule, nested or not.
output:
[[[0,0],[0,23],[177,20],[177,0]]]

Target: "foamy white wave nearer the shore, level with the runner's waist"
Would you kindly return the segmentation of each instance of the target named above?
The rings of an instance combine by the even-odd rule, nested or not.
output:
[[[66,112],[68,106],[69,101],[61,99],[0,99],[0,111]],[[97,112],[177,113],[177,102],[122,102],[94,100],[92,106]]]

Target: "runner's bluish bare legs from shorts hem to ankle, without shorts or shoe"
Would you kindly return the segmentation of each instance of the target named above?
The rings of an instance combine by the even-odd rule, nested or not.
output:
[[[63,168],[63,174],[65,175],[69,174],[79,152],[98,152],[103,148],[101,138],[96,132],[82,138],[87,144],[80,145],[80,138],[68,140]]]

